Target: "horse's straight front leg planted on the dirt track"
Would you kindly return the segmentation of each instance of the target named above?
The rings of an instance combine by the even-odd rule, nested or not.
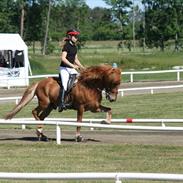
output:
[[[79,123],[82,122],[83,112],[84,112],[84,107],[80,106],[79,109],[77,110],[77,122],[79,122]],[[81,131],[81,127],[77,126],[76,127],[76,142],[82,142],[84,140],[80,131]]]

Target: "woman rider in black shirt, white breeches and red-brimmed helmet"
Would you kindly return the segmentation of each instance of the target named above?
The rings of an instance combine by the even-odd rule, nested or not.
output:
[[[76,42],[78,40],[80,32],[75,29],[70,29],[66,32],[65,44],[62,48],[61,53],[61,64],[60,64],[60,76],[63,89],[61,90],[61,102],[58,106],[58,111],[61,112],[66,109],[64,102],[65,92],[67,91],[67,85],[70,75],[77,75],[76,69],[84,69],[77,56]]]

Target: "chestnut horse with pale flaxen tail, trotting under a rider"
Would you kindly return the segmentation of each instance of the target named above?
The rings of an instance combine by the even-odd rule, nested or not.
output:
[[[77,82],[66,97],[71,106],[70,109],[77,111],[77,122],[82,122],[83,113],[106,112],[106,123],[111,123],[112,110],[101,105],[102,91],[105,91],[106,99],[110,102],[116,101],[118,88],[121,81],[121,71],[110,65],[99,65],[88,67],[81,71]],[[33,109],[32,114],[36,120],[44,120],[53,109],[56,109],[59,101],[59,78],[47,78],[30,85],[24,92],[20,102],[9,112],[5,119],[13,118],[26,104],[36,95],[38,106]],[[76,140],[82,141],[80,128],[76,129]],[[46,137],[42,129],[37,129],[38,137]]]

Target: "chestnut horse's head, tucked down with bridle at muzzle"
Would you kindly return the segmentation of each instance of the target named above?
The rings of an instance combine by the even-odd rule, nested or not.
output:
[[[116,101],[121,83],[120,69],[110,68],[109,70],[106,70],[103,80],[105,82],[106,99],[110,102]]]

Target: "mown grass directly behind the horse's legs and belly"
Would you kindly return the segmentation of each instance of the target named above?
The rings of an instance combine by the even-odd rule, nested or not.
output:
[[[102,104],[113,109],[113,118],[183,118],[183,93],[162,93],[147,95],[130,95],[118,97],[117,102],[103,100]],[[0,105],[0,117],[8,112],[15,103]],[[17,117],[31,117],[31,111],[37,103],[30,103]],[[49,117],[76,117],[76,112],[67,110],[58,113],[53,110]],[[105,118],[105,113],[84,113],[85,118]]]

